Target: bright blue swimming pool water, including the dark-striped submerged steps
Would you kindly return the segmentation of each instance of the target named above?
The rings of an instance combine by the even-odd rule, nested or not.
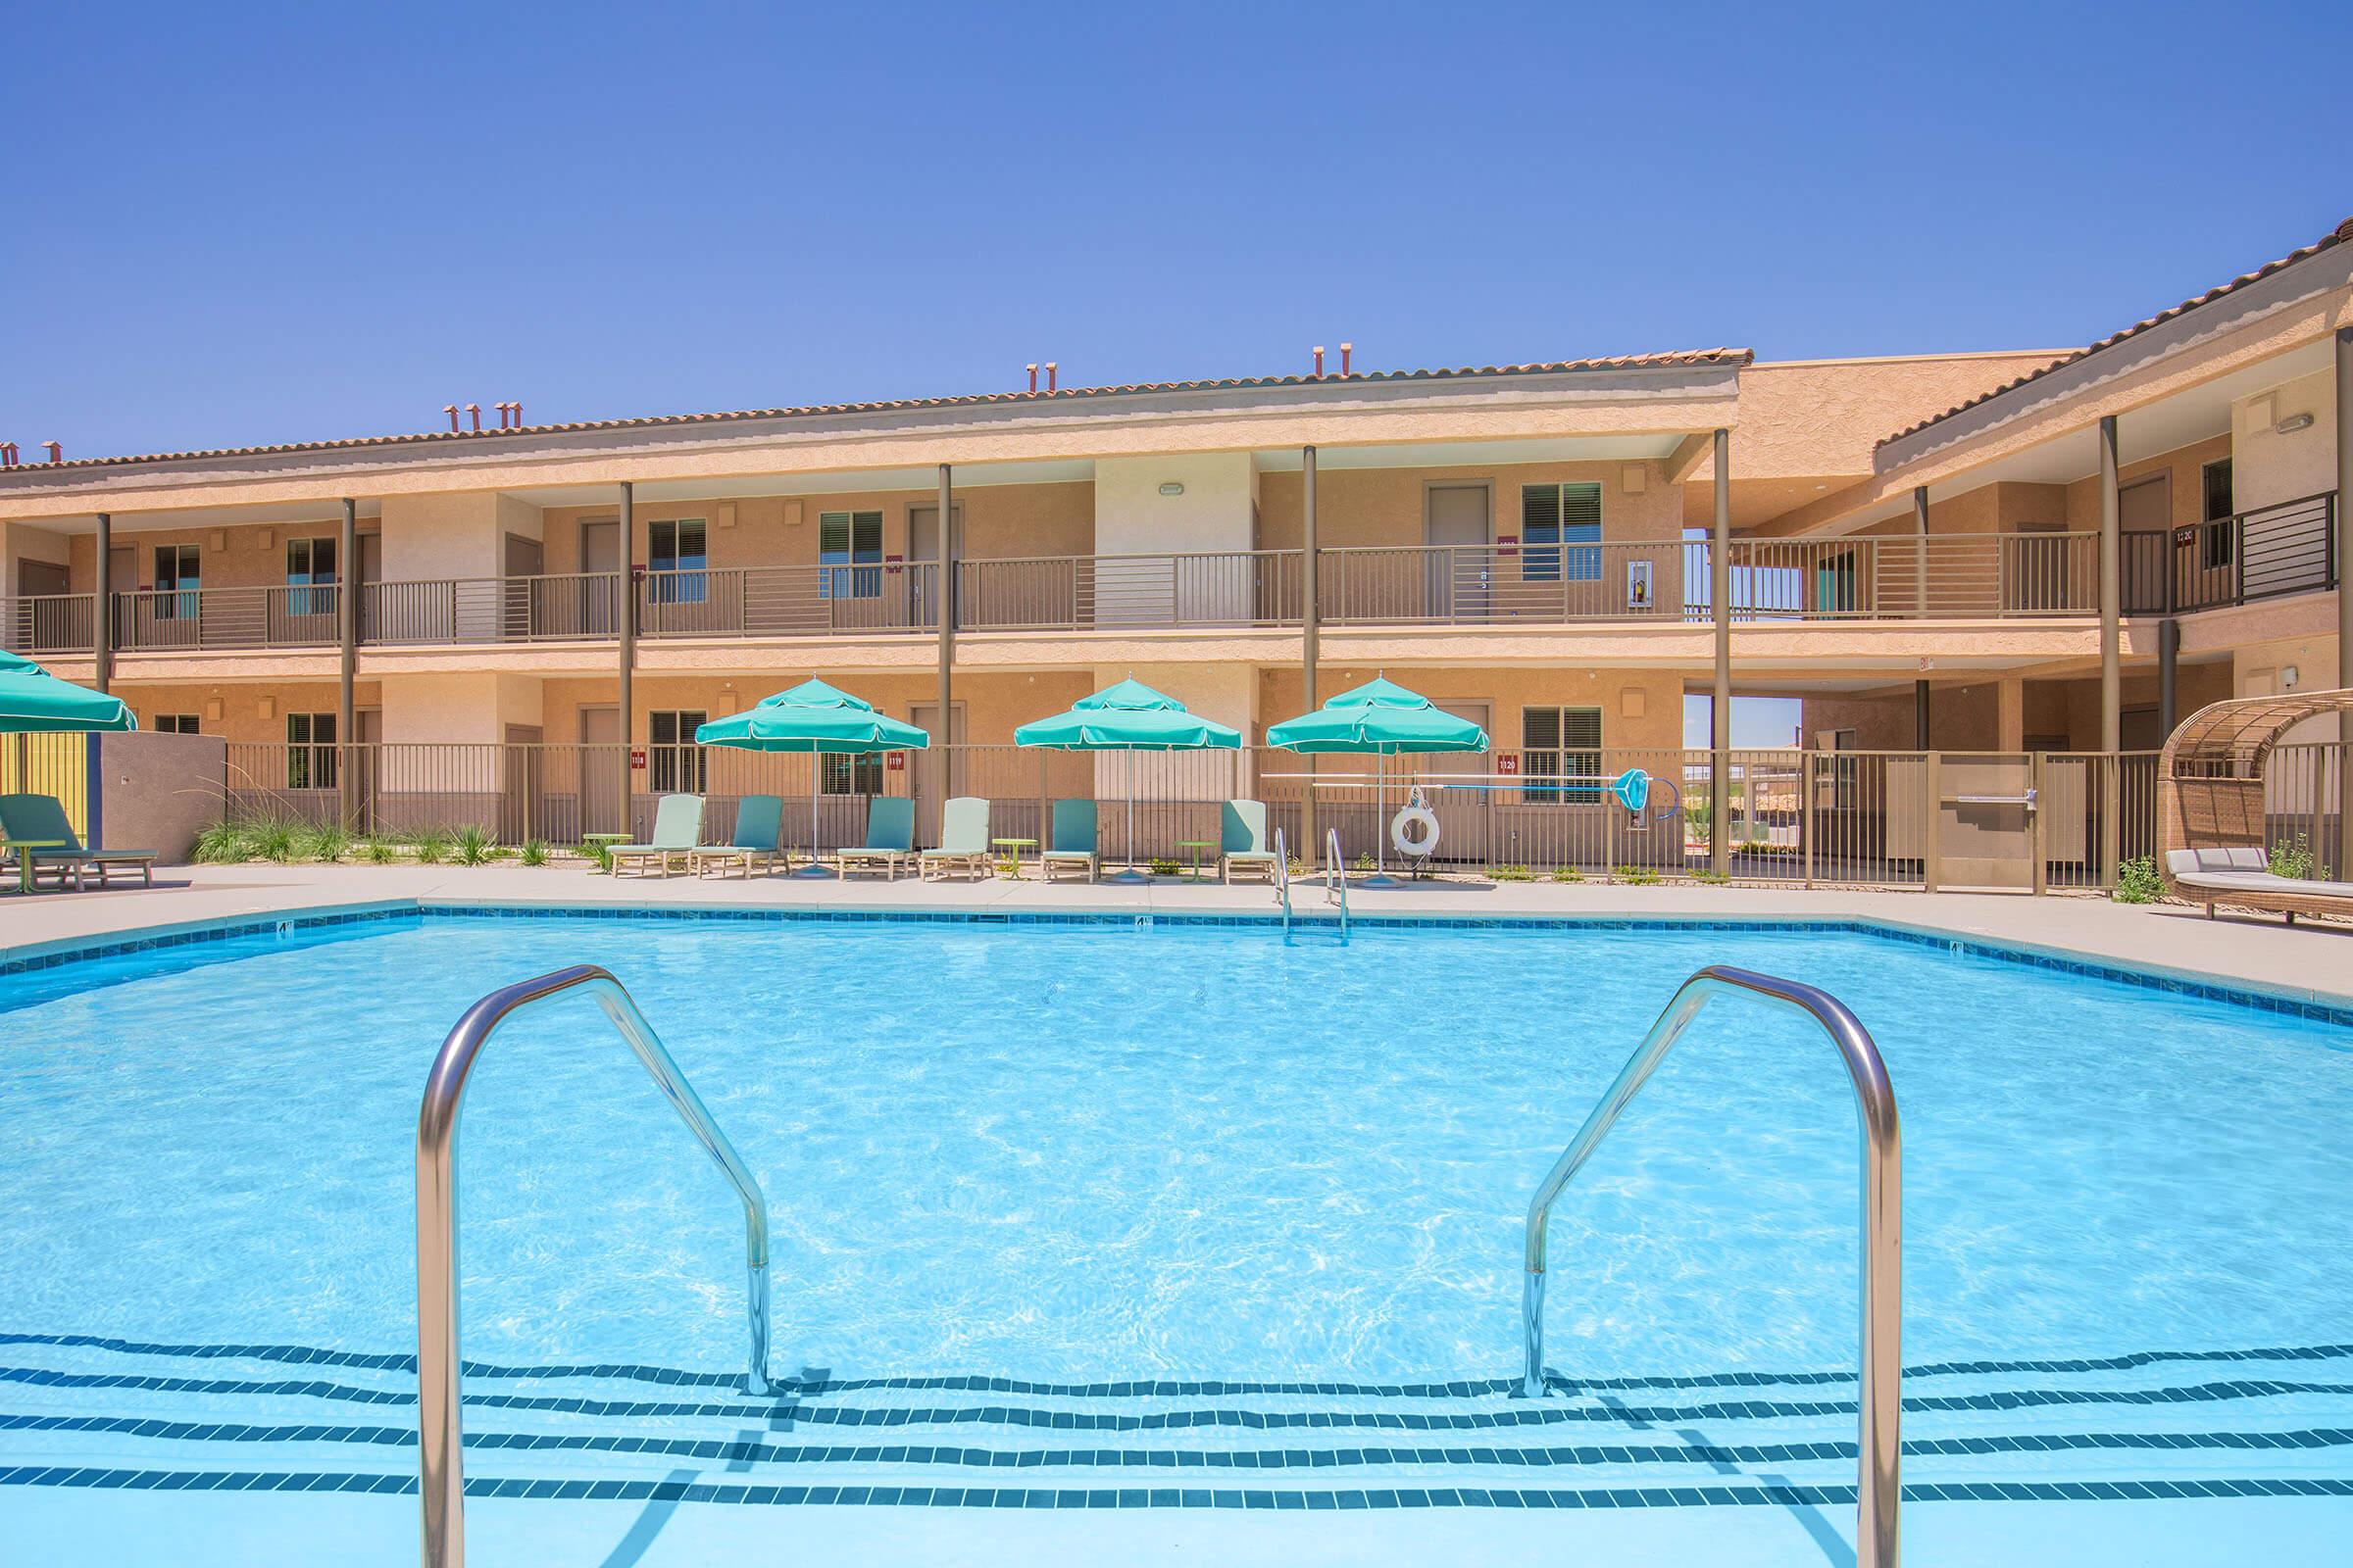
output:
[[[722,1180],[551,1004],[468,1091],[480,1495],[1845,1528],[1854,1110],[1802,1020],[1701,1016],[1558,1204],[1558,1389],[1508,1399],[1527,1197],[1711,961],[1887,1058],[1908,1497],[2353,1493],[2344,1023],[1861,931],[435,912],[0,976],[0,1495],[414,1488],[424,1070],[576,961],[762,1180],[788,1382],[734,1387]]]

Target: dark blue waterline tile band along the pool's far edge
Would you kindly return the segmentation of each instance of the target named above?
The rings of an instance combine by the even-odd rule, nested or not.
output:
[[[186,931],[158,931],[148,936],[122,933],[108,940],[75,943],[71,947],[54,947],[47,952],[24,952],[12,957],[0,957],[0,976],[21,973],[28,969],[56,969],[61,964],[78,964],[85,959],[120,957],[125,952],[146,952],[151,947],[179,947],[186,943],[226,940],[238,936],[268,936],[268,933],[292,933],[311,926],[336,926],[355,922],[379,922],[379,919],[628,919],[628,922],[734,922],[734,924],[946,924],[946,926],[1127,926],[1127,929],[1158,929],[1158,926],[1259,926],[1280,929],[1280,914],[1198,914],[1198,912],[1162,912],[1153,910],[1148,914],[1136,912],[1113,912],[1113,910],[772,910],[772,907],[746,907],[746,910],[692,910],[692,907],[612,907],[612,905],[419,905],[416,900],[367,905],[367,907],[344,907],[344,910],[287,910],[280,914],[261,914],[252,919],[228,919],[205,926],[193,926]],[[2151,969],[2134,969],[2129,964],[2108,964],[2101,959],[2080,959],[2061,952],[2042,952],[2035,947],[2021,947],[2009,943],[1991,943],[1984,938],[1953,936],[1944,931],[1927,931],[1899,924],[1882,924],[1873,919],[1675,919],[1675,917],[1612,917],[1612,914],[1358,914],[1355,929],[1360,931],[1386,931],[1386,929],[1424,929],[1445,926],[1457,931],[1744,931],[1744,933],[1854,933],[1875,936],[1892,943],[1911,943],[1918,947],[1941,947],[1955,957],[1998,959],[2002,964],[2024,964],[2028,969],[2052,969],[2059,973],[2085,976],[2094,980],[2115,980],[2118,985],[2139,985],[2144,990],[2169,992],[2177,997],[2198,997],[2202,1001],[2226,1001],[2233,1006],[2249,1006],[2261,1013],[2285,1013],[2289,1018],[2308,1018],[2315,1023],[2329,1023],[2341,1027],[2353,1027],[2353,1004],[2320,1001],[2313,997],[2275,994],[2259,987],[2231,985],[2224,980],[2193,980],[2186,976],[2158,973]],[[1304,931],[1337,931],[1337,919],[1320,917],[1294,917],[1294,929]]]

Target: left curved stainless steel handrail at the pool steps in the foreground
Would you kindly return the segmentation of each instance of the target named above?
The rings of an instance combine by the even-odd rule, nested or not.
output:
[[[612,1027],[652,1074],[661,1098],[687,1124],[704,1152],[744,1199],[744,1251],[751,1272],[751,1371],[744,1392],[767,1394],[767,1199],[744,1159],[727,1143],[694,1086],[664,1051],[654,1025],[619,980],[595,964],[558,969],[489,992],[456,1020],[416,1112],[416,1443],[424,1495],[424,1566],[466,1563],[466,1479],[459,1462],[459,1328],[456,1328],[456,1128],[466,1074],[499,1025],[522,1009],[586,987]]]

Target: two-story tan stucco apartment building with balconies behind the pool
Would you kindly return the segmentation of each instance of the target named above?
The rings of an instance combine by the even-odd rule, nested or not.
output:
[[[400,748],[506,748],[489,788],[548,837],[715,788],[694,724],[807,675],[955,745],[798,785],[845,797],[1085,788],[1012,773],[1012,731],[1129,672],[1259,741],[1386,670],[1487,724],[1499,773],[1732,778],[1682,757],[1685,698],[1725,693],[1800,701],[1793,750],[2118,755],[2217,696],[2353,684],[2348,343],[2353,221],[2080,350],[9,461],[0,625],[144,726],[264,748],[273,790],[348,804],[358,748],[367,788]],[[1727,806],[1769,816],[1762,778]],[[2120,778],[2085,783],[2111,827]]]

